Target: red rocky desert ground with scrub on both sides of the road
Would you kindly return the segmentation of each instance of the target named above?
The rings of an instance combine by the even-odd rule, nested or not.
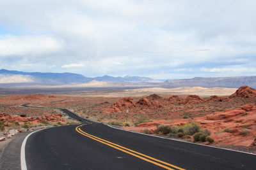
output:
[[[42,123],[65,124],[67,120],[57,108],[67,108],[81,117],[148,134],[159,134],[157,128],[161,125],[179,129],[196,123],[202,131],[211,132],[210,137],[214,139],[211,145],[243,146],[253,150],[256,145],[255,104],[256,90],[248,86],[228,96],[209,97],[195,94],[132,97],[13,94],[0,97],[0,121],[4,122],[3,130]],[[177,134],[171,136],[178,138]],[[182,139],[193,141],[193,135]]]

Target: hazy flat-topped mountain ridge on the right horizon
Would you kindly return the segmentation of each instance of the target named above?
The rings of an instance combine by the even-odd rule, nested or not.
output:
[[[232,87],[238,88],[243,85],[256,88],[256,76],[237,76],[220,78],[195,77],[191,79],[167,80],[159,83],[159,87]]]

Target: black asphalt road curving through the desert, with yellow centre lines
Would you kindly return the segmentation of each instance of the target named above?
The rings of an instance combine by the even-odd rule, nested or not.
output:
[[[28,169],[256,169],[255,155],[120,131],[63,111],[83,124],[32,134]]]

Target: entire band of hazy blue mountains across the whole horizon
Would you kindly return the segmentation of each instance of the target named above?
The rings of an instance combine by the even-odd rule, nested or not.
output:
[[[94,80],[94,81],[93,81]],[[157,81],[148,77],[140,76],[98,76],[95,78],[88,78],[82,74],[75,73],[39,73],[39,72],[22,72],[22,71],[9,71],[6,69],[0,69],[0,86],[8,87],[8,85],[68,85],[79,83],[91,83],[95,84],[97,81],[107,81],[109,83],[103,83],[104,87],[108,84],[116,85],[147,85],[147,87],[231,87],[238,88],[243,85],[256,88],[256,76],[236,76],[236,77],[220,77],[220,78],[201,78],[195,77],[191,79],[180,80],[166,80]],[[102,83],[97,82],[97,85]],[[86,85],[84,85],[86,86]]]

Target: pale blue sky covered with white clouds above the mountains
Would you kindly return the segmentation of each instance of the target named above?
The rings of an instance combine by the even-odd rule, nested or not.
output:
[[[256,76],[256,1],[1,0],[0,68]]]

